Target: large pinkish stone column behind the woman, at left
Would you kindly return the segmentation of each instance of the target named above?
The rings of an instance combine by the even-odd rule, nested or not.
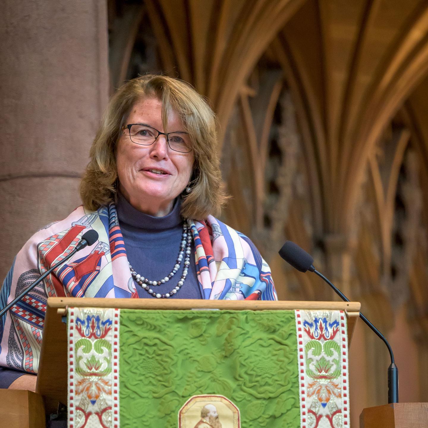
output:
[[[103,0],[3,0],[0,13],[0,285],[37,229],[77,205],[108,97]]]

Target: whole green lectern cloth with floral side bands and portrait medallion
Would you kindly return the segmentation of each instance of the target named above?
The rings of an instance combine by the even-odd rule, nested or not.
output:
[[[68,309],[68,425],[349,426],[342,311]]]

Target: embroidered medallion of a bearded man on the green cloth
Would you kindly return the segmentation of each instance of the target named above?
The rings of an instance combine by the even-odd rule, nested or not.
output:
[[[223,395],[193,395],[178,411],[178,428],[241,428],[239,409]]]

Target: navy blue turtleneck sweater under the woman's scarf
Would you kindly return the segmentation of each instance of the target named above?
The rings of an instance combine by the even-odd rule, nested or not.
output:
[[[153,217],[135,209],[121,194],[116,201],[119,226],[125,243],[126,255],[132,268],[151,281],[159,281],[171,273],[177,263],[183,233],[180,215],[181,199],[177,198],[172,211],[165,217]],[[166,294],[178,284],[184,269],[180,269],[165,284],[151,287],[153,291]],[[155,299],[141,285],[135,282],[139,297]],[[196,278],[194,244],[190,255],[190,266],[181,289],[170,299],[202,299]]]

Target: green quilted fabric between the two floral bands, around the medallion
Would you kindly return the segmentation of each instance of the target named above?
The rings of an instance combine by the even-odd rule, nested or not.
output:
[[[126,367],[126,369],[125,369]],[[294,311],[120,311],[120,426],[177,427],[219,394],[243,428],[300,427]]]

